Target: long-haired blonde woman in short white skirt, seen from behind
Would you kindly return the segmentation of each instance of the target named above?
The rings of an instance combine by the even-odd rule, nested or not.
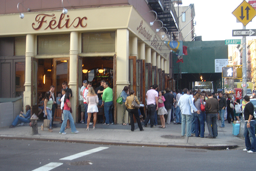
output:
[[[88,104],[88,109],[87,109],[88,119],[87,119],[86,130],[89,131],[90,117],[92,116],[92,113],[93,113],[93,130],[94,130],[95,124],[97,121],[97,112],[99,112],[97,107],[97,103],[99,103],[99,99],[93,87],[90,87],[88,89],[88,94],[86,96],[86,103]]]

